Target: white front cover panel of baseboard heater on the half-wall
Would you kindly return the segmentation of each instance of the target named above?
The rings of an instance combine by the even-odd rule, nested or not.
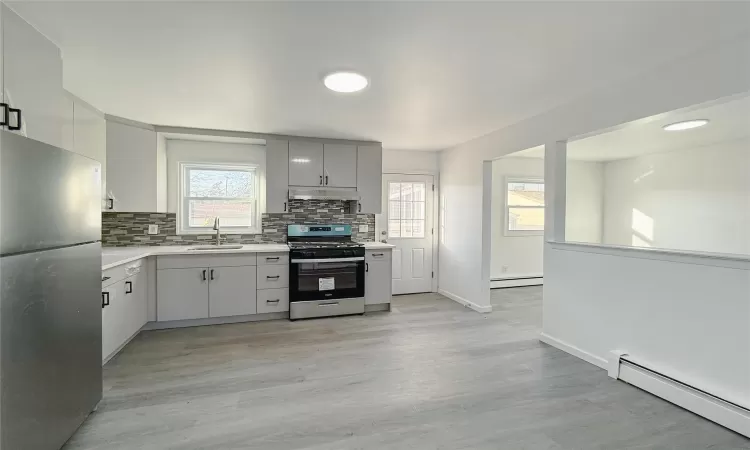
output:
[[[620,365],[619,379],[750,437],[750,413],[729,403],[629,364]]]

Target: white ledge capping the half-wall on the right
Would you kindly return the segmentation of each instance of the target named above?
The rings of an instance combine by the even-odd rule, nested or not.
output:
[[[581,242],[547,241],[556,250],[567,250],[601,255],[621,256],[624,258],[654,259],[683,264],[745,269],[750,265],[750,255],[732,255],[726,253],[709,253],[694,251],[677,251],[646,247],[624,247],[618,245],[587,244]]]

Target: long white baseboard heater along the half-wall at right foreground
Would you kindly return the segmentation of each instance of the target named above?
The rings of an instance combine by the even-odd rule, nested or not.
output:
[[[612,352],[609,376],[650,392],[730,430],[750,437],[750,409],[636,362],[623,352]]]

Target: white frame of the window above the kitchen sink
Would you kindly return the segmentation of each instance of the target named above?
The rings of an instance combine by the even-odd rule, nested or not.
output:
[[[186,176],[189,170],[226,170],[226,171],[244,171],[253,172],[253,192],[255,197],[189,197],[189,179]],[[208,162],[187,162],[180,161],[177,164],[179,194],[177,198],[177,233],[178,234],[214,234],[215,231],[211,226],[208,227],[191,227],[187,217],[190,200],[236,200],[239,202],[250,202],[254,213],[250,218],[250,223],[255,226],[250,227],[221,227],[222,234],[260,234],[261,217],[260,211],[260,177],[261,167],[258,164],[237,164],[237,163],[208,163]]]

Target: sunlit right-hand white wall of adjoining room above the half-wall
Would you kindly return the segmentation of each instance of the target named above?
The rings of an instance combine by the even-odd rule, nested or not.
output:
[[[750,139],[612,161],[605,174],[606,244],[750,254]]]

